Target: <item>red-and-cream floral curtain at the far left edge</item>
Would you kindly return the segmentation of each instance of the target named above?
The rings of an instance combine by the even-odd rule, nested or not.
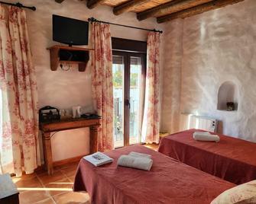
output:
[[[0,162],[21,176],[40,165],[37,82],[24,10],[0,5]]]

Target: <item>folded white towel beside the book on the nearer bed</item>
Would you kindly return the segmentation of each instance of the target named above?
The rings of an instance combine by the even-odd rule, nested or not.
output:
[[[138,168],[141,170],[150,171],[153,164],[151,158],[135,158],[129,155],[121,155],[118,158],[118,166]]]

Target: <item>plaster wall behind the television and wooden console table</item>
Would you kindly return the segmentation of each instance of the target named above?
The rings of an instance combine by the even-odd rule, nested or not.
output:
[[[102,21],[118,24],[161,28],[154,18],[140,22],[131,12],[115,16],[112,8],[107,6],[97,6],[95,9],[89,10],[86,8],[86,2],[79,0],[66,0],[62,4],[58,4],[54,0],[21,0],[20,2],[37,7],[37,11],[26,10],[26,12],[31,49],[37,72],[40,107],[50,105],[66,109],[81,105],[87,110],[92,110],[90,67],[87,67],[86,72],[78,72],[76,68],[70,69],[68,72],[60,69],[57,69],[56,72],[50,71],[50,56],[47,47],[57,44],[52,40],[52,14],[81,20],[87,20],[93,16]],[[147,31],[116,26],[111,26],[111,30],[113,37],[147,40]],[[52,138],[52,148],[53,161],[87,154],[89,152],[89,129],[57,132]]]

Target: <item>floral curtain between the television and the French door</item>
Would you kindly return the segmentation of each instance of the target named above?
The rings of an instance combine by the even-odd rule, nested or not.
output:
[[[92,97],[102,123],[99,128],[98,151],[114,148],[112,43],[109,24],[92,23]]]

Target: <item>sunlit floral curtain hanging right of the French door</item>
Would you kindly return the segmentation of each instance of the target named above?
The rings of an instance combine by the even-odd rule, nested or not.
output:
[[[147,37],[147,75],[141,142],[159,142],[160,126],[160,33],[150,32]]]

